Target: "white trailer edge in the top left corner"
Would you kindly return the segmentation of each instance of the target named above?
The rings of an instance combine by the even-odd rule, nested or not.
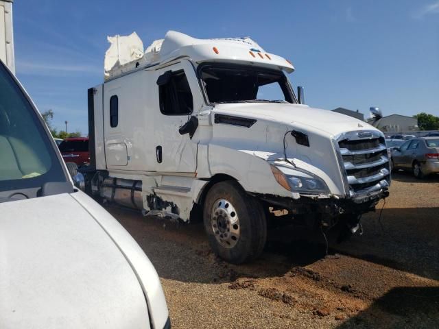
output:
[[[0,0],[0,60],[15,74],[13,0]]]

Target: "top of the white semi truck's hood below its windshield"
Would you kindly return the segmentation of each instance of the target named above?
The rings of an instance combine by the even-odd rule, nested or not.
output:
[[[263,119],[276,123],[298,124],[313,127],[331,135],[350,130],[376,130],[364,121],[353,117],[311,108],[307,105],[289,103],[228,103],[217,104],[215,112],[240,115],[250,119]]]

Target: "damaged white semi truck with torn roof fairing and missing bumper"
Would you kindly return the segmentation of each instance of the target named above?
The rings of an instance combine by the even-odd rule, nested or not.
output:
[[[88,90],[95,195],[152,215],[202,217],[211,247],[231,263],[261,254],[274,214],[355,232],[388,196],[383,134],[304,105],[285,74],[291,62],[250,38],[171,31],[145,53],[116,41],[105,82]]]

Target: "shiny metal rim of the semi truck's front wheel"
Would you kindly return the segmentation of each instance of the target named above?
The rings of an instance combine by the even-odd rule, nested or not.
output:
[[[239,241],[241,227],[238,213],[227,199],[217,199],[212,207],[211,225],[213,235],[222,247],[233,248]]]

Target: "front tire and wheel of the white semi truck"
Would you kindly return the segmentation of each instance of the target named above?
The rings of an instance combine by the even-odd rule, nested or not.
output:
[[[212,186],[204,200],[203,221],[211,248],[227,262],[241,264],[261,255],[267,239],[265,213],[237,182]]]

